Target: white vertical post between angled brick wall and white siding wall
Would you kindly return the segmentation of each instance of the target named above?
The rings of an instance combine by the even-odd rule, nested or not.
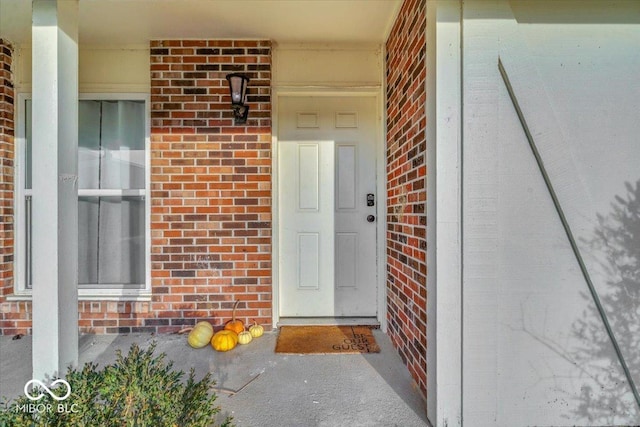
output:
[[[427,416],[462,426],[461,1],[427,0]]]

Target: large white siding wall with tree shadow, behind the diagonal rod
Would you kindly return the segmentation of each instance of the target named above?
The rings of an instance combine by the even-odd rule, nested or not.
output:
[[[498,72],[500,57],[640,383],[638,12],[465,2],[465,426],[640,423]]]

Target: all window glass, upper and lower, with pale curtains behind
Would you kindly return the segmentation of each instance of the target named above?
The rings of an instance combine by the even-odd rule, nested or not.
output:
[[[31,105],[26,100],[24,189],[32,188]],[[78,113],[78,188],[144,190],[144,101],[81,100]],[[26,288],[31,288],[30,200],[30,196],[25,199],[24,217]],[[144,198],[99,193],[79,197],[78,227],[79,285],[145,283]]]

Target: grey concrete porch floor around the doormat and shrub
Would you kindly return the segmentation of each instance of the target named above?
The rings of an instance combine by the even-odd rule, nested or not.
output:
[[[238,427],[427,426],[426,408],[389,338],[375,330],[381,352],[365,355],[283,355],[268,332],[227,353],[194,350],[185,335],[82,335],[80,366],[103,367],[115,350],[157,342],[174,368],[200,379],[210,371],[217,404]],[[31,379],[31,337],[0,336],[0,397],[23,393]],[[239,390],[239,391],[238,391]]]

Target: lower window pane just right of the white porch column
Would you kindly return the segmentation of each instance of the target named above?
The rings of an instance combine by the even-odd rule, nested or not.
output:
[[[145,282],[144,200],[78,198],[78,284]]]

